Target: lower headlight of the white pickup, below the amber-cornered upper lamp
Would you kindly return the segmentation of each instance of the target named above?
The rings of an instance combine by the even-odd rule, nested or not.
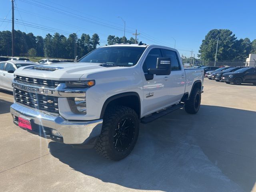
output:
[[[86,98],[68,98],[68,103],[72,112],[76,114],[86,114]]]

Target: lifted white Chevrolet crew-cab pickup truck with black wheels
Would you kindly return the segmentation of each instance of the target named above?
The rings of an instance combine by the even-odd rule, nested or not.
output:
[[[173,48],[103,46],[76,63],[16,70],[10,112],[29,132],[120,160],[134,148],[140,123],[180,108],[198,112],[203,75],[184,70]]]

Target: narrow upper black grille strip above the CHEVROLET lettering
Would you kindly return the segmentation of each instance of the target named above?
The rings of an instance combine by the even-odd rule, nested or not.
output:
[[[47,87],[57,87],[60,83],[64,83],[64,81],[38,79],[38,78],[24,77],[19,75],[16,75],[14,79],[17,82],[21,82],[21,83],[32,84],[37,86],[47,86]]]

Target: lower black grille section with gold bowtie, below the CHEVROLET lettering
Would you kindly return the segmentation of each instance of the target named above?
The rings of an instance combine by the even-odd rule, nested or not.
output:
[[[58,113],[58,97],[46,96],[32,92],[26,92],[24,90],[14,89],[16,102],[36,108],[38,110],[44,110],[47,112]]]

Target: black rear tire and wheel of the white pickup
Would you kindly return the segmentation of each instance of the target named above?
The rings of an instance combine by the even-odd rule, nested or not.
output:
[[[187,113],[196,114],[201,104],[201,91],[199,88],[194,88],[191,92],[189,100],[185,102],[184,109]]]

